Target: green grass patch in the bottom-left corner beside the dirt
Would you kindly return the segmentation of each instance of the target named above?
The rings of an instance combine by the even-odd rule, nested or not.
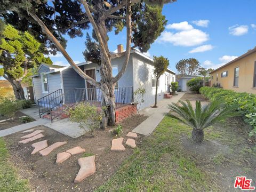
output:
[[[8,162],[8,150],[0,138],[0,189],[1,191],[30,191],[28,181],[19,179],[17,171]]]

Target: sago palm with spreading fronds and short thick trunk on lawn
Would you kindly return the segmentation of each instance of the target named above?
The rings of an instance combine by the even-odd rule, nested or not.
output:
[[[169,105],[169,109],[176,113],[172,116],[193,129],[191,139],[195,143],[202,143],[206,127],[221,119],[238,116],[235,108],[235,106],[225,106],[219,101],[204,106],[201,105],[201,101],[196,101],[195,108],[188,100],[186,102],[179,100],[178,103]]]

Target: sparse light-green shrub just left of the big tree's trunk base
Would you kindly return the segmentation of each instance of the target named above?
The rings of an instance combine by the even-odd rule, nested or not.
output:
[[[91,106],[89,103],[78,103],[74,109],[70,108],[68,113],[71,122],[78,123],[81,129],[94,137],[94,132],[100,128],[102,120],[102,115],[96,106]]]

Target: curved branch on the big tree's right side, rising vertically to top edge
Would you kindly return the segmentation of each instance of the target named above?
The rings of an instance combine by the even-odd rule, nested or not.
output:
[[[124,59],[124,64],[121,69],[121,71],[113,78],[113,83],[116,83],[124,74],[129,57],[130,57],[130,52],[131,52],[131,41],[132,41],[132,26],[131,26],[131,18],[132,18],[132,11],[131,11],[131,2],[130,0],[127,0],[126,2],[126,51],[125,51],[125,59]]]

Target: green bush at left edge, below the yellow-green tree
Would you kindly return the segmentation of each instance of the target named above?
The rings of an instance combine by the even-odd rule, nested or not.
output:
[[[0,115],[14,118],[15,113],[22,108],[22,104],[14,98],[0,98]]]

